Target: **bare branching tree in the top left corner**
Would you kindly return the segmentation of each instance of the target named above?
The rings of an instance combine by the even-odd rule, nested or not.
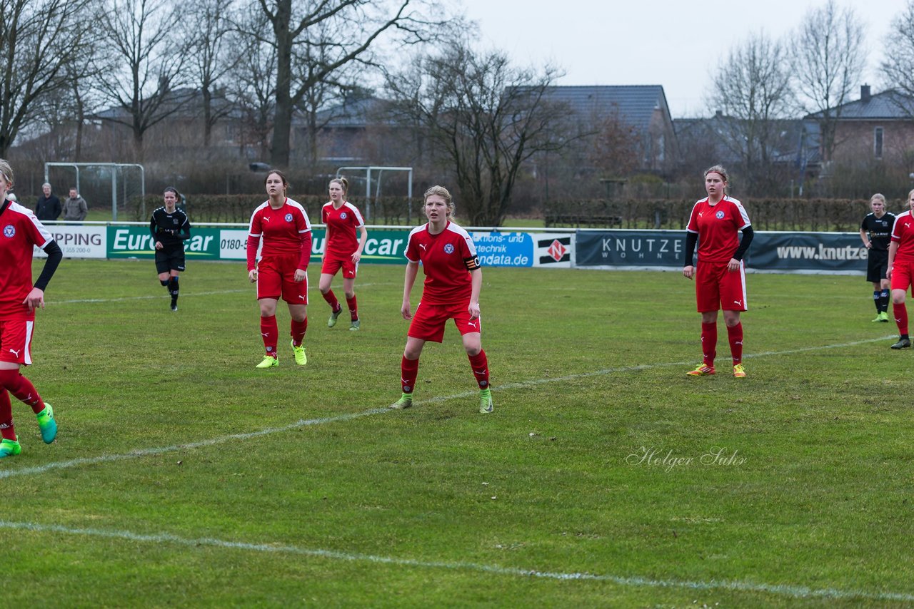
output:
[[[65,66],[85,47],[79,16],[87,4],[0,0],[0,156],[37,120],[37,101],[66,87]]]

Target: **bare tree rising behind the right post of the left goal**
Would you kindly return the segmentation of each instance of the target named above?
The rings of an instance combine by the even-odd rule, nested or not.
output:
[[[116,110],[101,119],[133,132],[133,149],[143,158],[143,136],[186,103],[183,43],[174,33],[183,14],[170,0],[108,0],[100,17],[107,64],[95,86]]]

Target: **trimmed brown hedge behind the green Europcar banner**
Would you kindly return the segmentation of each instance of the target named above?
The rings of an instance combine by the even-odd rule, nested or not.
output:
[[[313,224],[321,222],[321,207],[327,202],[324,195],[292,195],[292,199],[303,205],[308,212],[308,219]],[[191,224],[195,222],[239,222],[247,223],[250,215],[258,205],[266,200],[265,196],[252,194],[191,194],[186,197],[185,209],[190,216]],[[356,205],[362,215],[367,214],[365,197],[351,197],[350,203]],[[149,220],[153,210],[163,205],[161,194],[147,194],[143,207],[143,197],[133,197],[128,203],[126,215],[133,221],[143,222]],[[406,197],[381,197],[372,202],[368,224],[401,225],[407,222],[409,202]],[[416,220],[419,205],[413,203],[411,219]]]

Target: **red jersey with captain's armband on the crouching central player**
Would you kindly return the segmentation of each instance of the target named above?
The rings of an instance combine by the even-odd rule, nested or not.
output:
[[[421,262],[425,273],[422,302],[428,304],[460,304],[473,293],[470,269],[479,268],[476,246],[470,234],[448,222],[438,235],[429,232],[429,225],[417,226],[409,233],[406,258]]]

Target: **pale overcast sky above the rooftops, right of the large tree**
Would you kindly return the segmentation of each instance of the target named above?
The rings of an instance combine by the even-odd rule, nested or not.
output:
[[[782,37],[824,0],[462,0],[484,47],[521,65],[547,60],[565,69],[561,85],[663,85],[674,118],[707,115],[707,90],[720,58],[750,32]],[[841,6],[848,5],[839,1]],[[903,0],[857,0],[869,49],[866,83],[878,74],[889,24]],[[911,33],[914,36],[914,32]],[[862,84],[862,83],[861,83]],[[859,88],[852,98],[859,95]]]

